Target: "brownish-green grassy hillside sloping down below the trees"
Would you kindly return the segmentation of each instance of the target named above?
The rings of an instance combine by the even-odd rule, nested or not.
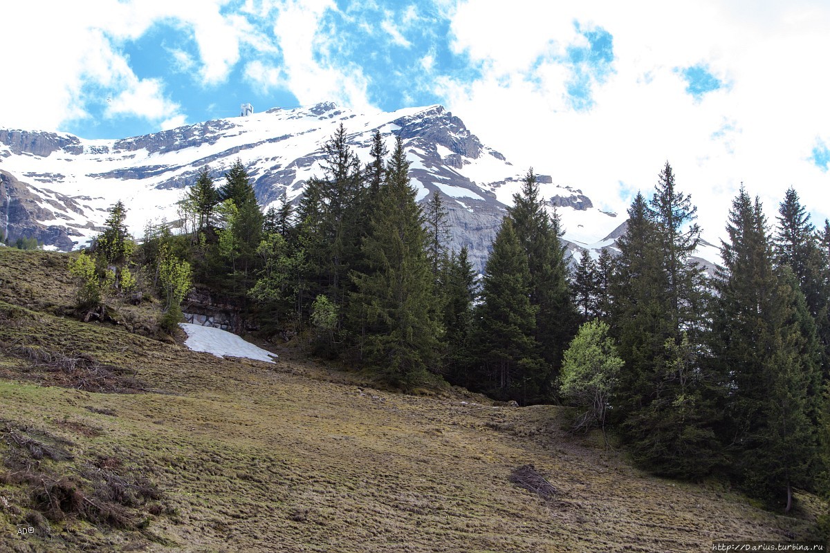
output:
[[[812,497],[783,517],[722,485],[650,477],[564,434],[560,408],[398,395],[291,352],[222,360],[80,323],[66,258],[0,248],[0,551],[709,551],[815,537]],[[149,318],[125,313],[127,327]],[[511,483],[525,465],[525,481],[552,488]]]

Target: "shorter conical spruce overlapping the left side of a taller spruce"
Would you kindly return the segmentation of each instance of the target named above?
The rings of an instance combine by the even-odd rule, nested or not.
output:
[[[471,339],[475,387],[502,400],[527,403],[540,395],[542,363],[533,337],[539,308],[530,291],[527,255],[505,217],[487,259]]]

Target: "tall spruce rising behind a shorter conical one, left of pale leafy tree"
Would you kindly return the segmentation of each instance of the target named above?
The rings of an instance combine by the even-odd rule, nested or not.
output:
[[[539,381],[533,386],[539,396],[530,400],[551,400],[562,356],[576,333],[578,318],[561,241],[564,230],[555,213],[553,218],[548,215],[532,167],[525,174],[521,191],[514,194],[508,214],[527,260],[530,304],[536,313],[533,337],[544,361],[544,368],[536,375]]]

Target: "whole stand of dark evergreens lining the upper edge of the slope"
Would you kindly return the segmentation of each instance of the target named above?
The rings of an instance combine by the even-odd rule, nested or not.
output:
[[[788,509],[793,488],[826,491],[830,223],[817,231],[794,190],[773,229],[742,189],[707,274],[669,163],[632,201],[618,250],[578,260],[530,169],[478,275],[448,249],[442,196],[418,206],[408,173],[400,138],[388,153],[375,133],[361,166],[341,125],[296,206],[262,214],[241,162],[218,189],[206,167],[182,202],[186,232],[151,233],[142,255],[188,261],[263,332],[393,386],[575,405],[580,427],[654,473],[720,474]]]

